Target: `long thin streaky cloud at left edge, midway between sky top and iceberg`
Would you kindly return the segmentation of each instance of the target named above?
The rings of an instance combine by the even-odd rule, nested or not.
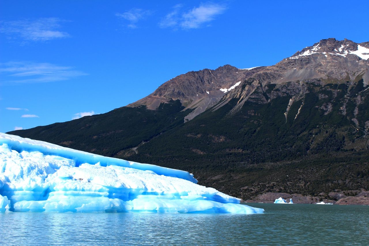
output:
[[[36,62],[0,63],[0,74],[5,75],[2,78],[5,84],[45,83],[87,75],[87,73],[74,70],[73,67]]]

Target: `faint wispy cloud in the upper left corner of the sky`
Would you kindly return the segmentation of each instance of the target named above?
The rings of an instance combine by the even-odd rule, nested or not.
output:
[[[39,18],[37,20],[1,21],[0,32],[8,39],[21,38],[25,41],[47,41],[55,38],[70,37],[67,32],[60,31],[59,18]]]

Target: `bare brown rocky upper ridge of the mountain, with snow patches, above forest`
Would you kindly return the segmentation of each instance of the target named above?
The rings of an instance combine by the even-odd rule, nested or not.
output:
[[[253,82],[242,86],[248,79],[253,79]],[[224,103],[240,95],[248,100],[254,91],[262,91],[261,88],[268,84],[300,83],[310,79],[321,79],[323,83],[363,79],[365,85],[369,84],[369,42],[358,44],[348,39],[328,38],[273,66],[238,69],[227,64],[214,70],[191,71],[168,80],[149,96],[127,106],[146,105],[148,109],[155,110],[161,103],[180,100],[186,109],[193,109],[185,118],[187,121],[222,98]]]

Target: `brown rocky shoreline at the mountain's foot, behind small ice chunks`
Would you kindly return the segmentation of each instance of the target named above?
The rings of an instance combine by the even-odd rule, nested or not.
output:
[[[320,193],[317,196],[306,196],[301,194],[287,193],[265,193],[256,196],[252,200],[241,202],[264,202],[273,203],[276,199],[282,197],[287,202],[292,199],[293,203],[316,204],[318,202],[332,203],[338,205],[369,205],[369,191],[337,191],[330,193]]]

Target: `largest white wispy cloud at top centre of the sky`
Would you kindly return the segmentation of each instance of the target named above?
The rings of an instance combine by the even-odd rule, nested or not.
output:
[[[214,3],[203,3],[199,7],[184,11],[181,11],[182,7],[182,4],[174,6],[173,11],[159,22],[159,27],[182,28],[187,30],[201,28],[206,23],[213,21],[217,15],[223,14],[226,10],[224,5]]]

